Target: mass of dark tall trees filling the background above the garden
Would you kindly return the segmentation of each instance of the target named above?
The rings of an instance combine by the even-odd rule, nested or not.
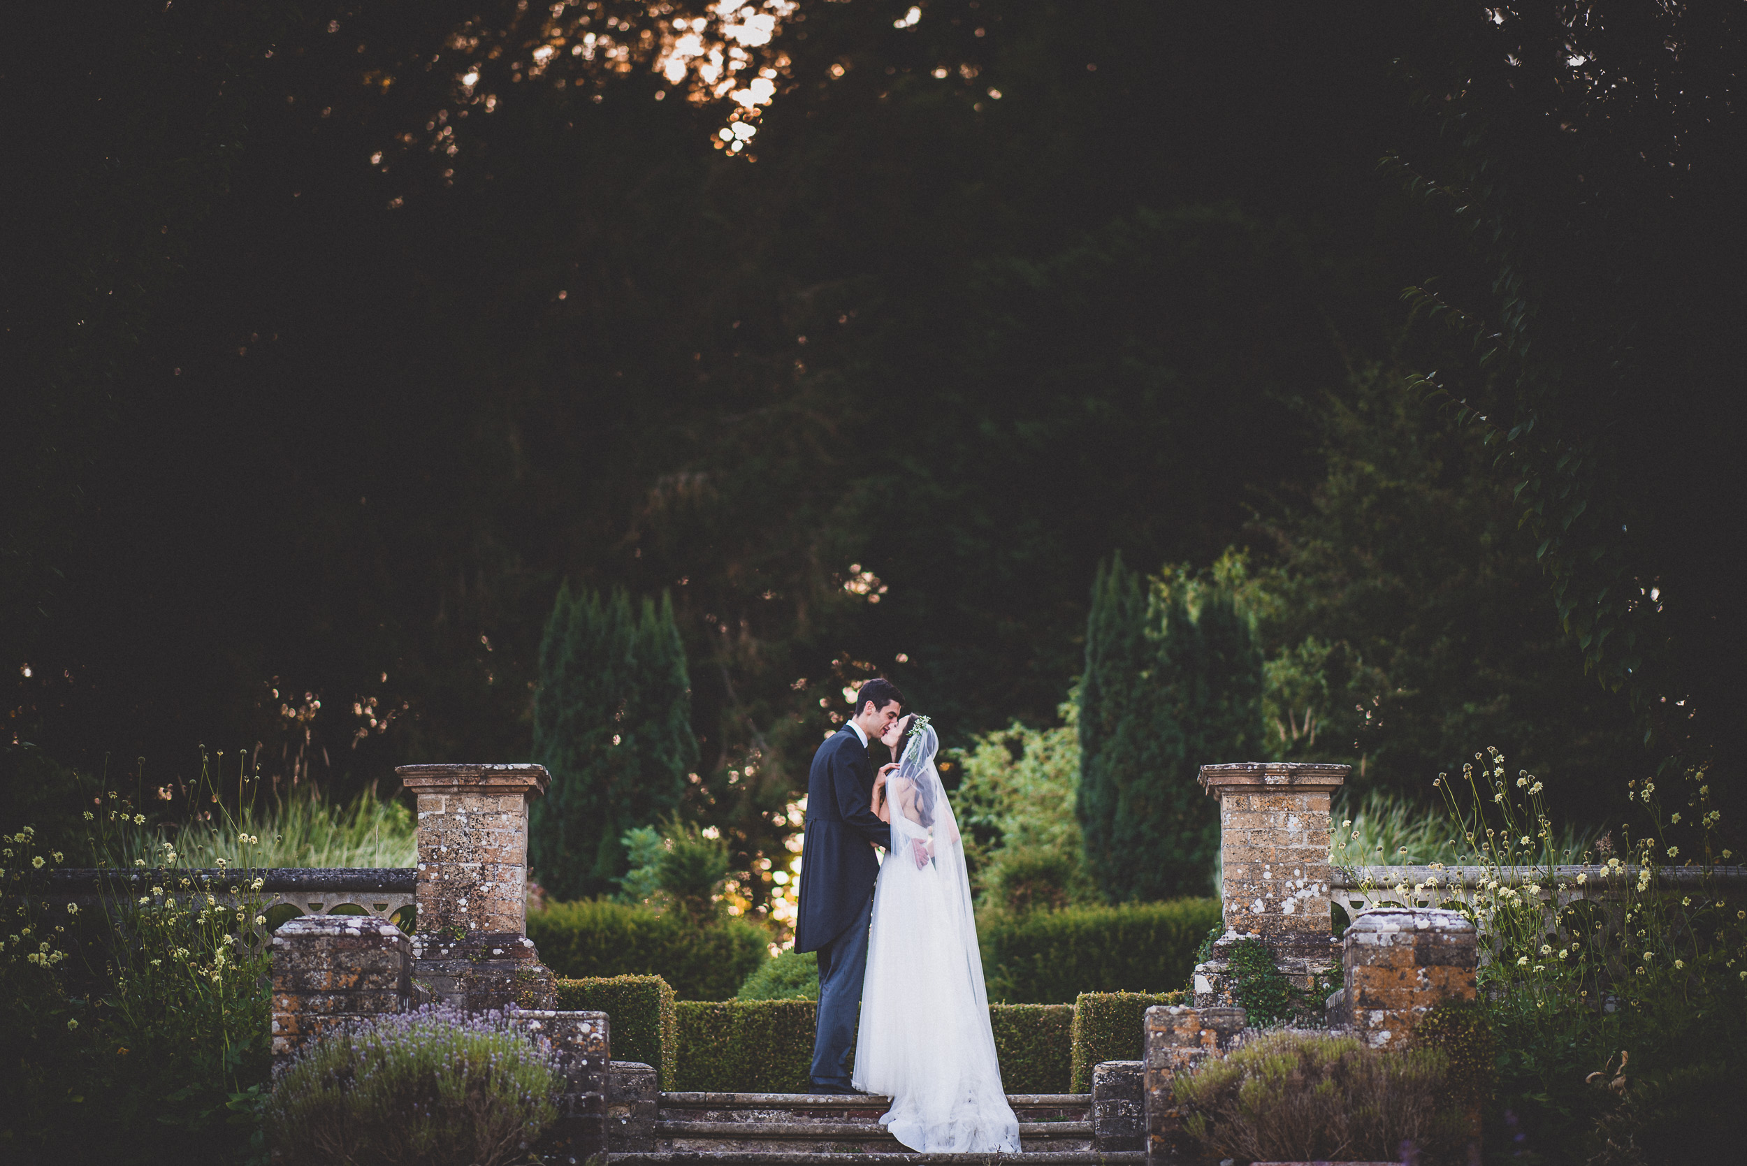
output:
[[[1247,545],[1417,742],[1319,738],[1368,780],[1733,765],[1731,16],[908,7],[728,37],[756,117],[650,68],[701,5],[19,17],[10,737],[522,759],[559,583],[666,590],[753,873],[844,686],[1048,721],[1099,560]]]

